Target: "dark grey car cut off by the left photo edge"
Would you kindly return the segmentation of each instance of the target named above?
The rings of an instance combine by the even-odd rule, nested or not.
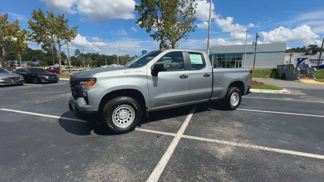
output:
[[[5,84],[18,84],[23,85],[25,83],[25,79],[23,76],[12,73],[5,68],[0,68],[0,85]]]

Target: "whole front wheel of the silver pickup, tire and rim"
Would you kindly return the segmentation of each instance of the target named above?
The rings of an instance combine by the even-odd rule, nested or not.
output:
[[[116,97],[103,107],[103,122],[116,133],[134,130],[140,120],[141,106],[131,97]]]

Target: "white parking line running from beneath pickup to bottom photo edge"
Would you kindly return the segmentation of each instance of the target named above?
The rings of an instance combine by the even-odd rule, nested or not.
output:
[[[164,168],[166,167],[166,165],[168,164],[174,150],[176,149],[184,130],[186,129],[186,127],[188,126],[188,123],[195,111],[196,107],[194,106],[190,113],[188,114],[187,118],[185,119],[185,121],[183,122],[182,126],[180,127],[179,131],[177,132],[175,138],[173,138],[171,144],[169,145],[167,151],[164,153],[164,155],[162,156],[162,158],[160,159],[160,161],[158,162],[158,164],[156,165],[156,167],[154,168],[153,172],[151,173],[151,175],[148,177],[147,181],[151,182],[151,181],[157,181],[158,178],[160,177],[161,173],[163,172]]]

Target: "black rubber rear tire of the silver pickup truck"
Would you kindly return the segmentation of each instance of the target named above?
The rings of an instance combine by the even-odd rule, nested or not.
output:
[[[231,97],[236,94],[238,101],[234,101],[234,104],[231,102]],[[235,98],[235,96],[233,96]],[[228,88],[226,96],[224,98],[223,105],[227,110],[235,110],[238,108],[242,100],[241,90],[235,86]]]

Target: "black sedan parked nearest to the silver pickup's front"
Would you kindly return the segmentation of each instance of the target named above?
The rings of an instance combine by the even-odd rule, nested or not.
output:
[[[55,73],[50,73],[43,68],[19,68],[15,73],[22,75],[26,82],[43,83],[43,82],[58,82],[59,77]]]

